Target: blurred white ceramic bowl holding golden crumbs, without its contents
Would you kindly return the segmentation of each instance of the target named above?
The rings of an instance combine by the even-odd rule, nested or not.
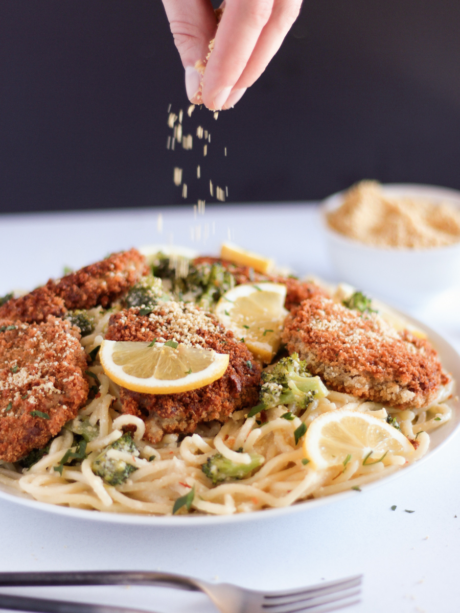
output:
[[[460,192],[430,185],[383,185],[388,196],[423,197],[460,208]],[[460,243],[428,249],[377,248],[333,230],[326,214],[340,207],[345,192],[323,200],[321,219],[331,260],[340,280],[377,298],[405,307],[418,307],[436,294],[460,283]]]

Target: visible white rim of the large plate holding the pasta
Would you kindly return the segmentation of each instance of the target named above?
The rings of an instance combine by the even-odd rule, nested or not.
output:
[[[453,376],[456,382],[460,381],[460,356],[455,351],[455,349],[439,334],[434,332],[431,328],[424,326],[416,319],[404,315],[407,321],[411,322],[421,330],[426,332],[429,340],[432,345],[439,352],[440,359],[442,361],[443,367]],[[362,485],[362,492],[371,489],[373,487],[377,487],[378,485],[383,485],[391,481],[391,479],[397,478],[397,476],[401,474],[407,474],[407,471],[414,470],[418,466],[421,466],[426,460],[429,460],[432,455],[439,451],[446,443],[449,441],[459,430],[460,425],[460,402],[456,397],[456,388],[454,388],[453,398],[449,400],[449,405],[453,409],[453,414],[451,420],[445,424],[440,426],[437,430],[434,430],[430,433],[430,449],[426,455],[423,456],[418,462],[407,466],[407,468],[402,468],[402,470],[397,471],[396,473],[391,474],[388,477],[378,479],[367,485]],[[135,515],[128,513],[107,513],[101,511],[88,511],[85,509],[74,509],[65,506],[58,506],[56,504],[48,504],[39,502],[37,500],[33,500],[33,498],[29,498],[28,495],[20,495],[17,493],[10,493],[11,490],[7,490],[7,487],[0,484],[0,498],[4,500],[8,500],[13,503],[23,504],[25,506],[29,506],[37,511],[48,511],[51,513],[58,513],[59,515],[64,515],[67,517],[75,517],[78,519],[90,519],[96,520],[99,522],[109,522],[115,524],[132,524],[132,525],[149,525],[149,526],[158,526],[158,527],[177,527],[177,526],[196,526],[196,525],[217,525],[217,524],[233,524],[236,522],[248,522],[251,520],[261,519],[269,519],[273,517],[278,517],[281,515],[287,515],[291,513],[296,513],[298,511],[307,511],[308,509],[313,509],[318,506],[323,506],[323,504],[332,504],[337,500],[344,500],[345,498],[349,498],[350,496],[356,496],[356,492],[352,492],[348,490],[346,492],[340,492],[337,494],[333,494],[331,496],[325,496],[323,498],[314,498],[313,500],[305,500],[303,502],[299,502],[293,504],[292,506],[283,507],[279,509],[265,509],[264,511],[253,511],[248,513],[239,513],[235,515],[224,515],[224,516],[144,516],[144,515]]]

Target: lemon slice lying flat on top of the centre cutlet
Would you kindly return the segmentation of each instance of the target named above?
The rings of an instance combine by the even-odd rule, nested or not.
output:
[[[177,394],[220,379],[229,356],[183,343],[102,341],[99,358],[105,374],[144,394]]]

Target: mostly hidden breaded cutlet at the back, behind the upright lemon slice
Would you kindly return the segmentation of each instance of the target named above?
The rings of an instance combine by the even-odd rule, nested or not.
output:
[[[282,283],[286,286],[285,308],[288,311],[297,308],[304,300],[309,300],[313,296],[321,295],[329,298],[328,292],[323,287],[320,287],[313,281],[300,281],[291,276],[267,275],[255,272],[249,266],[241,266],[234,264],[228,260],[220,259],[219,257],[201,256],[193,260],[193,265],[199,264],[221,264],[235,278],[235,283],[241,285],[243,283],[260,283],[261,281],[272,281],[272,283]]]

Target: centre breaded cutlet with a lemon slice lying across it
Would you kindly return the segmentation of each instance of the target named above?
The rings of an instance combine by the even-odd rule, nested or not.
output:
[[[212,314],[191,303],[166,302],[146,316],[140,316],[138,308],[115,313],[105,338],[175,340],[230,356],[220,379],[190,392],[153,395],[121,388],[121,410],[144,419],[145,439],[151,443],[158,443],[164,433],[192,433],[199,422],[226,422],[234,411],[258,403],[261,368],[250,351]]]

